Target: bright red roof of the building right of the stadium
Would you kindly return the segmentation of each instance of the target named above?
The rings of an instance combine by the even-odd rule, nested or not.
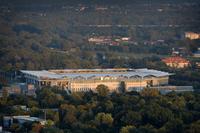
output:
[[[162,61],[165,63],[189,63],[187,59],[182,58],[180,56],[168,57],[168,58],[162,59]]]

